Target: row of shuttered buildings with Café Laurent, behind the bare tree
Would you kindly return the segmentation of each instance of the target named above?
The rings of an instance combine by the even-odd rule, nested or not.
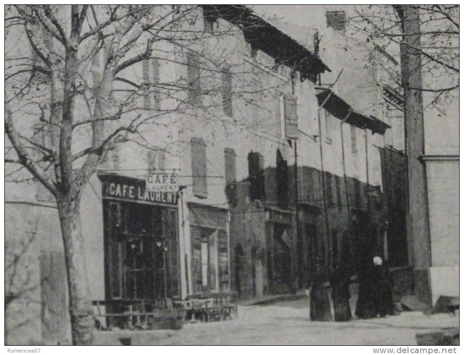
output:
[[[156,6],[150,16],[171,11]],[[381,255],[398,296],[408,294],[404,99],[378,74],[398,62],[373,48],[367,69],[353,65],[372,56],[340,47],[343,12],[323,14],[327,24],[310,33],[243,5],[191,14],[179,25],[203,34],[191,48],[153,41],[156,58],[121,71],[107,92],[117,110],[133,84],[142,108],[129,112],[146,121],[142,140],[111,142],[80,197],[95,315],[131,300],[295,294],[312,282],[316,258],[327,268],[348,261],[355,274]],[[103,85],[109,50],[91,51],[89,92]],[[85,107],[76,99],[82,120]],[[52,133],[36,121],[26,126],[47,147]],[[75,135],[84,149],[88,132]],[[70,343],[56,201],[38,182],[8,182],[6,192],[6,341]]]

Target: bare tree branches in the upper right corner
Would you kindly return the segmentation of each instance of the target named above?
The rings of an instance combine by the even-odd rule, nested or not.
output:
[[[409,7],[417,10],[420,16],[417,34],[405,34],[402,5],[358,6],[354,16],[348,19],[348,28],[352,33],[364,34],[367,41],[374,42],[398,59],[401,46],[420,55],[423,86],[407,86],[401,82],[401,76],[390,72],[397,83],[396,89],[427,92],[429,104],[445,112],[449,103],[456,99],[459,89],[459,5]],[[416,44],[406,38],[413,35],[420,37]]]

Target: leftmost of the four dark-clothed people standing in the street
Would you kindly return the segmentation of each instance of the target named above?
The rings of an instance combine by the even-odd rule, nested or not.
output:
[[[315,279],[311,285],[310,292],[310,319],[319,321],[331,321],[332,313],[330,311],[329,296],[327,294],[325,282],[325,270],[319,259],[315,260],[314,265]]]

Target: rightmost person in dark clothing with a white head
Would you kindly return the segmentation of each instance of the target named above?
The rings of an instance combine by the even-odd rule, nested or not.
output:
[[[380,317],[393,315],[393,279],[390,270],[382,258],[374,257],[375,278],[377,279],[376,312]]]

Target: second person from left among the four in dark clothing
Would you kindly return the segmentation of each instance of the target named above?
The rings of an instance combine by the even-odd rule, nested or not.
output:
[[[351,320],[350,273],[346,266],[335,264],[330,285],[332,287],[332,302],[334,303],[334,320]]]

